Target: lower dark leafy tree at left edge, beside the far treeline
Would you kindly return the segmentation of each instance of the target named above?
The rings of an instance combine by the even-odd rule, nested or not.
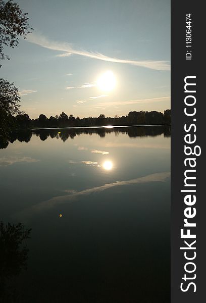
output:
[[[20,113],[20,96],[14,83],[0,79],[0,138],[3,139],[15,127],[14,115]]]

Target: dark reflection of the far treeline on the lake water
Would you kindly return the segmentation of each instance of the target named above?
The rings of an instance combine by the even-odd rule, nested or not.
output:
[[[93,135],[97,134],[100,138],[104,138],[106,134],[114,132],[116,136],[119,134],[126,134],[131,138],[136,137],[148,137],[148,136],[159,136],[164,134],[164,137],[170,137],[170,126],[136,126],[136,127],[100,127],[100,128],[64,128],[61,129],[33,129],[33,130],[21,130],[11,134],[7,140],[0,142],[0,148],[7,148],[9,143],[13,143],[18,140],[20,142],[29,142],[32,135],[36,135],[41,141],[45,141],[48,137],[61,139],[63,142],[66,140],[73,139],[75,136],[81,134]]]

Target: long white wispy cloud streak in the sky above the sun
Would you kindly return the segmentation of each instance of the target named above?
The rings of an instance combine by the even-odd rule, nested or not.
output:
[[[140,67],[145,67],[153,70],[162,70],[162,71],[169,71],[170,70],[170,64],[168,61],[153,61],[153,60],[129,60],[129,59],[118,59],[118,58],[111,58],[108,56],[105,56],[100,53],[95,52],[88,52],[84,50],[78,50],[75,49],[71,44],[67,42],[57,42],[47,39],[46,37],[42,35],[37,34],[30,34],[27,38],[27,40],[31,43],[40,45],[42,47],[53,49],[54,51],[61,51],[66,52],[65,54],[58,55],[58,57],[68,57],[72,54],[84,56],[92,59],[97,60],[103,60],[108,62],[116,62],[116,63],[125,63]]]

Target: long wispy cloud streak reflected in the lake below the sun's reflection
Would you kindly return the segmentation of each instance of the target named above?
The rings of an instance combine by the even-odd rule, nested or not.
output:
[[[105,185],[83,189],[81,191],[77,191],[74,193],[72,193],[71,190],[69,190],[69,192],[66,191],[69,193],[67,195],[56,196],[56,197],[50,198],[46,201],[42,201],[41,203],[36,204],[35,206],[32,206],[31,208],[27,208],[27,209],[23,210],[22,212],[17,213],[16,216],[18,216],[18,217],[20,215],[27,215],[27,216],[31,215],[32,216],[34,212],[52,208],[59,204],[69,203],[69,202],[73,201],[75,198],[77,198],[78,196],[89,195],[91,193],[100,192],[103,190],[110,189],[112,187],[126,186],[126,185],[130,185],[130,184],[147,183],[147,182],[165,182],[169,177],[170,177],[169,172],[155,173],[155,174],[150,174],[150,175],[136,178],[136,179],[126,180],[126,181],[116,181],[114,183],[107,183]]]

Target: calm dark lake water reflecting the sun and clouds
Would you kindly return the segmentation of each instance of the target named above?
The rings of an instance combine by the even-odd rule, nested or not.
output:
[[[0,173],[1,220],[32,229],[17,302],[170,301],[170,126],[22,131]]]

